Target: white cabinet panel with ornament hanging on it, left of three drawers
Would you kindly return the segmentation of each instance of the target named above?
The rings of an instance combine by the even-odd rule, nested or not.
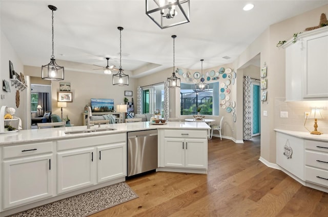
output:
[[[303,139],[277,132],[276,145],[277,164],[302,180],[304,178]],[[292,151],[292,155],[288,158],[290,150]]]

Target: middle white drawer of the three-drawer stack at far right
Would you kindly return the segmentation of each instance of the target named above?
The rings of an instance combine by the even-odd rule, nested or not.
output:
[[[306,150],[305,165],[328,170],[328,153]]]

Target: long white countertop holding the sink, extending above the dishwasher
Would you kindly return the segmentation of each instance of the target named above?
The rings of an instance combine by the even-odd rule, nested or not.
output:
[[[15,144],[17,142],[35,142],[49,139],[67,139],[74,137],[104,135],[113,133],[125,133],[130,131],[150,130],[150,129],[203,129],[209,130],[210,127],[203,122],[168,122],[165,125],[151,125],[149,122],[134,122],[122,124],[100,125],[101,128],[115,128],[112,131],[88,132],[78,134],[65,134],[66,131],[86,130],[87,126],[44,128],[32,130],[19,130],[12,133],[0,134],[0,145]],[[98,125],[92,126],[91,129],[97,129]]]

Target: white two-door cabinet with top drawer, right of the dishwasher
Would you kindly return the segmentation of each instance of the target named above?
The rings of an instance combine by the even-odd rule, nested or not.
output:
[[[161,142],[159,166],[207,169],[207,130],[163,130]]]

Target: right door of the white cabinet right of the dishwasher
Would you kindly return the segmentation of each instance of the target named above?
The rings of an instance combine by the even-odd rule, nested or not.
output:
[[[207,168],[207,139],[186,139],[185,166]]]

